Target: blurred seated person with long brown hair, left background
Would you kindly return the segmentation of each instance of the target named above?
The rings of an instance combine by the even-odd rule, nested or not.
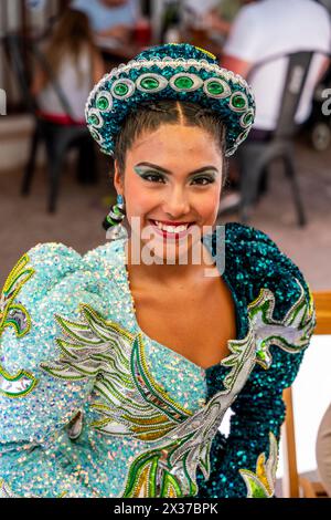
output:
[[[86,14],[73,9],[65,10],[44,54],[52,80],[38,67],[31,86],[40,115],[56,124],[84,125],[88,93],[105,73]],[[67,102],[70,114],[65,112],[54,89],[54,81]],[[78,157],[78,177],[87,179],[94,168],[94,145],[88,135],[86,139],[82,139]]]

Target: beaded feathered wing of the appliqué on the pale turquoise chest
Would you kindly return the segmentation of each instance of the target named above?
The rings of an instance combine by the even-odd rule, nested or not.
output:
[[[148,372],[143,343],[93,310],[79,305],[83,323],[56,316],[64,334],[57,339],[62,356],[41,367],[64,379],[96,378],[95,391],[104,403],[93,407],[102,418],[93,423],[106,435],[130,435],[141,440],[162,437],[174,424],[192,415],[178,405]]]

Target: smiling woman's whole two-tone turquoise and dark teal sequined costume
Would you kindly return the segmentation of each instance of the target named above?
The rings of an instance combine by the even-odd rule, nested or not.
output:
[[[215,236],[204,241],[215,256]],[[237,337],[207,370],[139,329],[124,239],[22,257],[0,300],[2,496],[274,496],[281,394],[314,309],[265,233],[227,223],[225,247]]]

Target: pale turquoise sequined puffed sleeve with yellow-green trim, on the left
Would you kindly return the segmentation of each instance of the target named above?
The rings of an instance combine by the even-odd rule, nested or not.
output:
[[[105,311],[99,292],[98,279],[82,257],[53,242],[30,249],[4,282],[0,300],[0,495],[38,496],[42,486],[43,496],[58,496],[61,489],[86,495],[51,451],[58,433],[86,406],[93,378],[64,381],[50,374],[47,366],[61,354],[61,323],[78,318],[82,303]],[[42,471],[34,478],[36,467]]]

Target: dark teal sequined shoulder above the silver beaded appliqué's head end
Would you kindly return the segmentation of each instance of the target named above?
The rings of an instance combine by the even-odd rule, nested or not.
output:
[[[302,295],[311,300],[309,284],[298,266],[265,232],[250,226],[225,226],[225,270],[237,291],[256,300],[263,289],[275,298],[275,318],[280,319]]]

